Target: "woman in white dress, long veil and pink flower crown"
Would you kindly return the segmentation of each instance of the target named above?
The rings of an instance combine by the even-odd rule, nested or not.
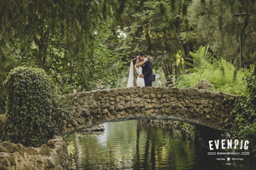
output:
[[[142,74],[142,65],[146,63],[146,61],[148,60],[149,56],[147,56],[143,62],[139,63],[139,57],[134,55],[131,58],[131,65],[130,65],[130,71],[129,71],[129,78],[128,78],[128,82],[127,82],[127,87],[133,87],[133,70],[135,71],[135,73],[138,73],[139,75]],[[140,78],[139,76],[137,77],[136,80],[136,84],[137,86],[143,87],[145,86],[145,82],[144,82],[144,78]]]

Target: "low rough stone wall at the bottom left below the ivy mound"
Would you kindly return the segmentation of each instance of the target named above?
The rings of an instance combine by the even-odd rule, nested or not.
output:
[[[0,143],[0,169],[28,170],[70,169],[66,145],[60,136],[54,136],[40,148],[25,148],[22,144]]]

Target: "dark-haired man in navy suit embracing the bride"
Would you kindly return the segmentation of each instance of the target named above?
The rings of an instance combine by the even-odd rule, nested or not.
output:
[[[141,62],[145,59],[145,54],[143,52],[138,53],[137,56]],[[142,65],[142,74],[140,74],[140,78],[144,78],[146,87],[152,87],[152,82],[155,81],[155,75],[153,74],[152,63],[150,60],[147,60],[146,63]]]

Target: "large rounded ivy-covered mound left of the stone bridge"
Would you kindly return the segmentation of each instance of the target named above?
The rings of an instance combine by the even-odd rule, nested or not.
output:
[[[53,81],[41,69],[17,67],[4,81],[8,90],[2,140],[40,146],[59,135],[64,117]]]

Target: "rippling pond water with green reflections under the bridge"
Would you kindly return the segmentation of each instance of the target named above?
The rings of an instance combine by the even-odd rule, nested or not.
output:
[[[181,131],[160,128],[139,120],[104,123],[99,135],[73,133],[68,152],[77,150],[76,169],[256,169],[256,160],[216,160]],[[230,158],[236,156],[229,156]],[[229,163],[230,165],[226,165]]]

